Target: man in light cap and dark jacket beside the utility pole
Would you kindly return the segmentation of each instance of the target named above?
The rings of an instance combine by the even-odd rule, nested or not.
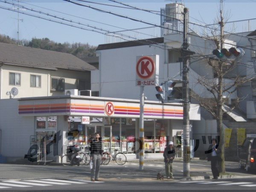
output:
[[[174,179],[172,174],[172,162],[175,158],[175,149],[173,147],[173,142],[170,141],[169,145],[163,151],[164,163],[166,168],[166,178]]]

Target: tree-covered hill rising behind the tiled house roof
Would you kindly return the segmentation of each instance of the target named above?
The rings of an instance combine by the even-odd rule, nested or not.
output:
[[[11,39],[9,36],[0,35],[0,42],[7,44],[18,44],[16,39]],[[21,40],[20,45],[24,47],[33,47],[38,49],[46,49],[50,51],[65,52],[77,57],[93,57],[96,56],[96,46],[91,46],[88,43],[73,43],[65,42],[63,44],[51,41],[49,38],[32,38],[31,41]]]

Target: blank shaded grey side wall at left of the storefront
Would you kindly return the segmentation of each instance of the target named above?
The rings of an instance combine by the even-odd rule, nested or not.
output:
[[[35,134],[34,116],[18,116],[17,106],[17,99],[0,99],[1,154],[6,157],[24,157]]]

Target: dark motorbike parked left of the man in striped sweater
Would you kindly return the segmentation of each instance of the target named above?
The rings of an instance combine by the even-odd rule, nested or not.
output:
[[[69,165],[84,165],[86,162],[86,154],[81,151],[78,145],[67,146],[67,154],[61,157],[61,164],[64,166]]]

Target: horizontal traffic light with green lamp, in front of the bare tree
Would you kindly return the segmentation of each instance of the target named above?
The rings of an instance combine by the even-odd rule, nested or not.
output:
[[[226,48],[223,49],[214,49],[212,51],[213,55],[216,55],[216,57],[220,59],[225,59],[225,58],[239,58],[244,55],[244,50],[241,48],[235,48],[231,47],[229,50]]]

